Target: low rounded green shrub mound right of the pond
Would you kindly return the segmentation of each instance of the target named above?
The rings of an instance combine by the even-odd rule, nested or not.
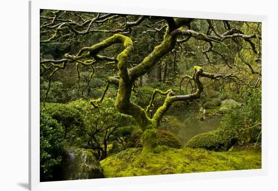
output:
[[[235,145],[236,140],[230,137],[221,136],[218,130],[201,133],[191,138],[185,147],[203,148],[210,151],[227,151]]]

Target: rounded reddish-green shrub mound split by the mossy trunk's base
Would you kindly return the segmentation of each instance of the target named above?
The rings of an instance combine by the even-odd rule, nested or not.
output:
[[[127,147],[143,147],[143,141],[141,138],[142,134],[143,131],[141,129],[135,129],[128,140]],[[182,146],[179,138],[170,131],[158,130],[157,139],[158,145],[168,146],[176,149],[179,149]]]

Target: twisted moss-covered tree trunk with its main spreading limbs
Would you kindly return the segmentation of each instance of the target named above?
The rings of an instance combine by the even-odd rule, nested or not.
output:
[[[188,101],[188,100],[194,100],[200,98],[201,92],[203,91],[203,84],[199,80],[199,77],[201,76],[215,79],[221,77],[226,78],[226,77],[230,77],[231,75],[208,74],[203,72],[203,69],[201,67],[195,67],[193,77],[191,76],[188,77],[195,81],[196,92],[187,95],[174,95],[171,89],[165,92],[160,91],[159,89],[155,89],[150,105],[147,107],[146,111],[142,107],[130,101],[130,96],[131,96],[134,82],[138,78],[142,78],[142,76],[146,74],[149,70],[151,70],[164,55],[166,55],[167,53],[169,53],[174,49],[176,44],[176,38],[178,35],[185,35],[187,36],[187,39],[193,37],[197,40],[210,42],[210,44],[212,40],[222,41],[223,39],[234,38],[237,36],[244,37],[244,38],[254,37],[252,35],[246,36],[243,34],[230,35],[231,33],[228,33],[229,35],[227,36],[218,34],[217,36],[212,37],[191,30],[190,24],[192,19],[174,19],[174,18],[166,17],[165,20],[168,23],[168,27],[166,28],[165,35],[163,36],[163,41],[161,42],[161,44],[157,45],[154,48],[153,52],[149,54],[140,64],[130,69],[128,69],[128,58],[132,53],[132,40],[129,37],[121,34],[114,34],[113,36],[107,38],[106,40],[103,40],[98,44],[95,44],[91,47],[84,47],[79,51],[79,53],[76,56],[65,55],[65,59],[67,61],[70,60],[71,62],[78,61],[79,59],[86,58],[86,57],[94,57],[99,60],[110,59],[118,63],[117,64],[118,76],[109,77],[108,84],[106,86],[103,96],[98,100],[92,101],[91,103],[94,106],[97,106],[97,104],[103,101],[104,95],[107,89],[109,88],[109,84],[116,85],[118,87],[117,98],[115,101],[116,108],[120,113],[133,116],[137,125],[143,130],[142,140],[144,142],[144,149],[150,149],[153,151],[155,151],[158,146],[157,127],[163,115],[170,108],[172,103],[176,101]],[[185,26],[188,28],[184,28]],[[214,29],[213,26],[211,26],[211,28]],[[122,51],[118,55],[117,59],[98,55],[100,51],[106,49],[107,47],[115,43],[121,43],[124,46],[124,51]],[[45,62],[48,61],[43,61],[41,63],[43,64]],[[163,79],[164,82],[166,78],[166,73],[167,73],[167,63],[165,63],[165,68],[164,68],[164,79]],[[166,99],[164,104],[155,112],[155,114],[151,118],[149,117],[148,113],[151,111],[151,108],[153,107],[153,101],[157,93],[166,95]]]

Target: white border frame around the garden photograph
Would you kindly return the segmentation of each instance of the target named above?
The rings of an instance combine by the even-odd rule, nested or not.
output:
[[[54,182],[39,181],[39,10],[69,10],[133,15],[172,16],[200,19],[238,20],[262,23],[262,168],[255,170],[203,172]],[[29,189],[61,189],[101,185],[122,185],[127,182],[150,183],[165,181],[196,180],[222,177],[243,177],[267,174],[267,17],[258,15],[193,12],[186,10],[142,9],[137,7],[97,5],[89,0],[32,0],[29,2]]]

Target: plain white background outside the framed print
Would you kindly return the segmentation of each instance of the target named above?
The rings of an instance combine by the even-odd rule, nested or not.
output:
[[[101,3],[106,2],[112,5],[268,16],[268,175],[70,190],[277,190],[278,127],[275,118],[278,113],[276,99],[278,6],[276,2],[160,0],[156,3],[151,0],[103,0]],[[175,6],[177,3],[178,7]],[[28,186],[28,1],[2,1],[0,7],[0,190],[26,190]]]

